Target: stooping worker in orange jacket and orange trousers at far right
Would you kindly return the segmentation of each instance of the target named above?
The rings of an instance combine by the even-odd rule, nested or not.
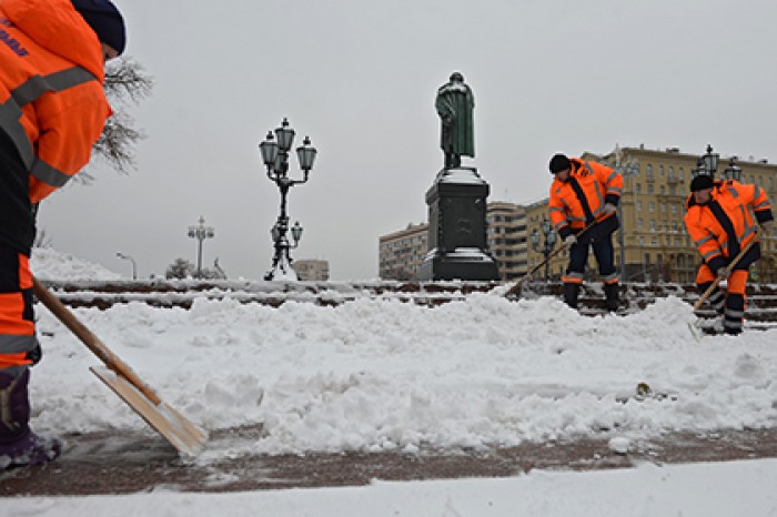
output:
[[[704,293],[716,277],[727,281],[726,288],[718,286],[707,302],[723,315],[723,331],[739,334],[745,317],[747,271],[760,258],[760,244],[756,242],[728,275],[726,267],[756,239],[758,225],[765,233],[771,230],[774,215],[769,199],[757,185],[714,181],[707,174],[699,174],[690,182],[686,210],[685,226],[703,260],[696,284]]]

